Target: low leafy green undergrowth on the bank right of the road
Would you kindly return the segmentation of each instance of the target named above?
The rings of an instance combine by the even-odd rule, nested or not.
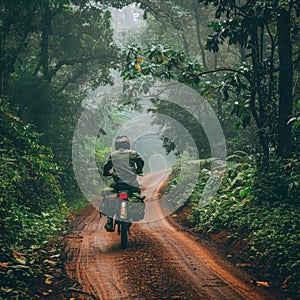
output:
[[[209,167],[201,168],[186,202],[193,230],[226,231],[231,240],[247,241],[243,255],[263,279],[296,295],[300,286],[299,167],[296,158],[283,160],[274,155],[266,166],[247,156],[231,156],[220,188],[208,204],[200,199],[215,173]],[[167,192],[176,187],[180,167],[174,170]]]

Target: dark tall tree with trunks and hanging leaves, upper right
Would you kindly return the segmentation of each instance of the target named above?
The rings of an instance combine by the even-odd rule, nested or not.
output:
[[[200,2],[208,4],[214,1]],[[290,32],[292,26],[296,27],[298,15],[299,1],[294,0],[223,0],[216,5],[216,18],[221,21],[212,25],[214,33],[207,46],[218,52],[219,45],[228,40],[230,44],[238,44],[250,52],[252,66],[247,75],[249,97],[246,96],[245,101],[240,103],[245,105],[249,102],[266,156],[269,148],[274,146],[281,156],[289,156],[292,150],[288,124],[293,106],[293,43]],[[236,85],[235,91],[240,90]],[[225,92],[228,92],[227,88]]]

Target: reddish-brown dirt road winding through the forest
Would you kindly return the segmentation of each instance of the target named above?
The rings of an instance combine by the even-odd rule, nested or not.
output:
[[[154,179],[143,179],[147,201],[158,198]],[[144,222],[134,223],[122,250],[117,233],[105,231],[106,218],[88,206],[65,240],[65,268],[74,285],[62,299],[280,299],[159,214],[153,206]],[[153,216],[157,221],[147,221]]]

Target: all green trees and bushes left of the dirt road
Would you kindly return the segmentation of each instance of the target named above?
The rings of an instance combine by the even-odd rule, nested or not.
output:
[[[72,137],[87,91],[111,82],[118,58],[110,1],[72,2],[0,3],[1,299],[51,293],[52,243],[86,203]]]

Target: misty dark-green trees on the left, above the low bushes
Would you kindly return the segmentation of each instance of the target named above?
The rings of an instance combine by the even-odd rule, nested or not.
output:
[[[71,146],[82,99],[111,83],[119,62],[109,6],[131,2],[0,1],[0,97],[43,133],[64,167],[66,194],[66,186],[74,191]]]

